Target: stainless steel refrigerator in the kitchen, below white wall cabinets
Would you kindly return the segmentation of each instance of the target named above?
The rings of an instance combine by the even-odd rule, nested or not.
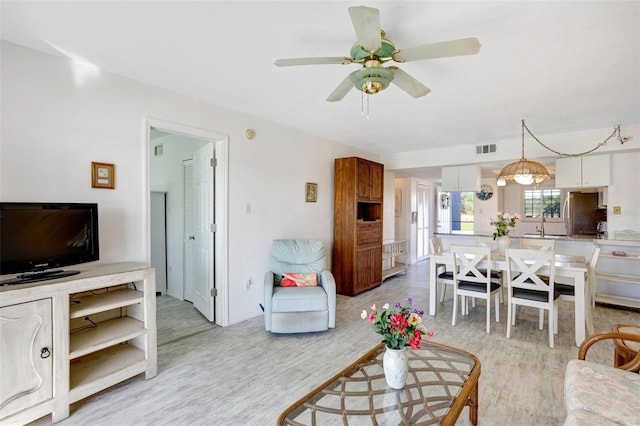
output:
[[[569,192],[563,207],[567,235],[597,235],[598,222],[607,220],[607,210],[598,208],[597,192]]]

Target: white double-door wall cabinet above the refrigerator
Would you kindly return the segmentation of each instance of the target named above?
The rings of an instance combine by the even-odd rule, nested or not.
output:
[[[609,154],[556,160],[556,188],[594,188],[609,186],[610,182]]]

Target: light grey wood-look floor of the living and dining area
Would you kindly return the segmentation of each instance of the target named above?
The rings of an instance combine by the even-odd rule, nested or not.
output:
[[[379,288],[356,297],[338,296],[336,328],[327,332],[273,335],[264,331],[258,317],[226,328],[205,327],[182,338],[159,336],[164,343],[158,347],[157,377],[131,379],[76,403],[62,424],[273,425],[285,408],[379,342],[370,324],[360,318],[362,309],[412,297],[415,307],[426,310],[428,268],[428,262],[422,262]],[[548,346],[546,328],[538,330],[537,310],[519,309],[511,339],[505,337],[506,305],[501,306],[501,322],[492,323],[491,334],[485,333],[484,301],[452,327],[450,289],[438,314],[425,316],[435,333],[433,341],[480,358],[481,425],[563,423],[564,370],[576,358],[577,348],[572,305],[561,302],[560,308],[555,349]],[[610,330],[616,323],[640,324],[639,317],[638,312],[604,306],[594,312],[596,331]],[[590,359],[611,364],[612,346],[599,345],[592,353]],[[459,424],[470,424],[468,409]]]

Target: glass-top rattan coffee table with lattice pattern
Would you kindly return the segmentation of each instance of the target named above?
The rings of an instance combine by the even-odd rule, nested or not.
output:
[[[480,360],[433,342],[407,348],[403,389],[387,385],[381,343],[285,410],[279,425],[453,425],[465,406],[478,423]]]

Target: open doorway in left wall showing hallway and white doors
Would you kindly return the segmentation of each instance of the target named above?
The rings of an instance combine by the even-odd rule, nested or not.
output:
[[[218,325],[228,323],[227,152],[224,135],[148,120],[148,211],[150,227],[156,227],[149,229],[149,253],[154,263],[162,257],[166,263],[152,264],[160,297],[192,302],[209,324]],[[163,207],[152,202],[157,194]],[[164,229],[158,229],[158,209],[164,210]],[[159,232],[165,238],[160,255]]]

